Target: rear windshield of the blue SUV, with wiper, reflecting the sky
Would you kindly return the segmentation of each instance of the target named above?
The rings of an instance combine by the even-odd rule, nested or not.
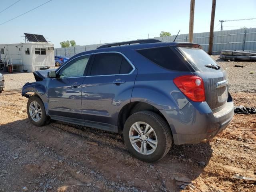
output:
[[[194,64],[200,72],[220,72],[214,68],[208,68],[205,65],[217,65],[216,62],[202,49],[192,47],[179,47],[182,54],[188,61]]]

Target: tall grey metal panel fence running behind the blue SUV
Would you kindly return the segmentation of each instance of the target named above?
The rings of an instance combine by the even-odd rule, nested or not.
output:
[[[210,32],[194,33],[193,43],[197,43],[203,46],[204,51],[208,52]],[[167,37],[155,37],[164,42],[172,42],[176,35]],[[188,34],[180,34],[176,38],[177,42],[188,42]],[[94,50],[104,44],[74,46],[68,48],[56,48],[54,49],[55,55],[63,55],[72,57],[80,52]],[[237,29],[226,31],[215,31],[213,38],[213,54],[220,54],[222,49],[225,50],[245,50],[256,52],[256,28],[250,29]]]

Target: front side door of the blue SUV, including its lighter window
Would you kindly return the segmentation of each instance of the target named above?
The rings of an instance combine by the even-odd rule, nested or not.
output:
[[[74,58],[58,70],[58,78],[51,79],[48,86],[48,114],[52,119],[83,124],[80,121],[82,83],[89,62],[90,55]]]

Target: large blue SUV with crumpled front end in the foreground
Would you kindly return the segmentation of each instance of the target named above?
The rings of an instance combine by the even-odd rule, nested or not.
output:
[[[34,76],[22,88],[32,124],[53,119],[118,132],[146,162],[164,157],[172,144],[212,139],[234,116],[227,73],[199,44],[106,44]]]

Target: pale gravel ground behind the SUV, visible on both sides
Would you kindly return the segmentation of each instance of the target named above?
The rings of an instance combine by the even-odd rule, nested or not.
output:
[[[219,56],[211,56],[228,73],[229,90],[236,92],[256,92],[256,62],[225,61]],[[234,65],[244,66],[234,67]],[[253,74],[250,74],[252,73]],[[5,90],[21,89],[26,82],[34,82],[34,75],[28,72],[3,73]]]

